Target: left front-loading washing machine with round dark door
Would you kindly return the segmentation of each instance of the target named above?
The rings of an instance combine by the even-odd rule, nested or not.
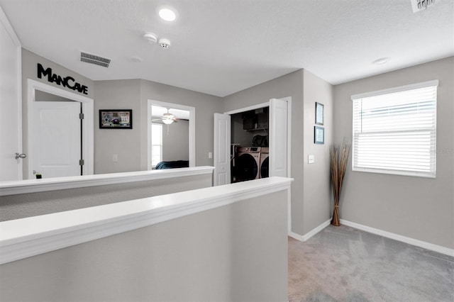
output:
[[[235,157],[235,179],[246,181],[260,178],[262,147],[238,147]]]

